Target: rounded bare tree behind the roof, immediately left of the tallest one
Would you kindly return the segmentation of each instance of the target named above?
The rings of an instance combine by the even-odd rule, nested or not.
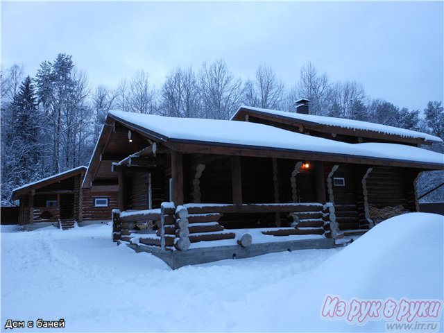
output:
[[[191,67],[175,69],[161,92],[160,113],[169,117],[200,117],[199,86]]]

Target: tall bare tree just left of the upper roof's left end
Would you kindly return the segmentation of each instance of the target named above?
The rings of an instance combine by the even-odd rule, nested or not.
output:
[[[200,98],[206,118],[228,119],[242,99],[241,78],[234,78],[223,60],[205,62],[199,75]]]

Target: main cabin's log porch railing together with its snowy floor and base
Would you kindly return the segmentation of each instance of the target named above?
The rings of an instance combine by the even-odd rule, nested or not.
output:
[[[223,214],[278,213],[292,216],[281,228],[227,229]],[[337,223],[330,203],[308,204],[194,204],[160,209],[113,212],[113,240],[137,252],[153,253],[172,268],[265,253],[335,246]]]

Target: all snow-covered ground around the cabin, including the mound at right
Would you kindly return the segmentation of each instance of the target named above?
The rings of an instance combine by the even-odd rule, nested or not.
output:
[[[408,214],[384,221],[343,249],[176,271],[152,255],[116,246],[109,225],[64,232],[13,232],[6,226],[1,325],[7,319],[64,318],[63,332],[383,332],[384,321],[321,319],[325,296],[443,300],[443,224],[443,216]]]

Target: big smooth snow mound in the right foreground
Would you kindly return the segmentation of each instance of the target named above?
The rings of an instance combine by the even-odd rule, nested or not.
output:
[[[359,327],[321,320],[325,296],[346,300],[443,300],[443,227],[444,216],[437,214],[411,213],[383,221],[330,257],[302,283],[281,280],[257,293],[250,299],[252,304],[266,299],[279,307],[250,309],[248,320],[235,330],[280,331],[293,327],[298,331],[384,332],[384,321]]]

